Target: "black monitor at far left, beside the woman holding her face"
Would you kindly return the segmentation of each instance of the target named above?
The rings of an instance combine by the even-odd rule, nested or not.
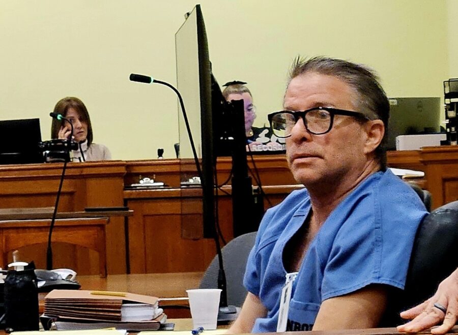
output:
[[[0,164],[43,163],[40,119],[0,121]]]

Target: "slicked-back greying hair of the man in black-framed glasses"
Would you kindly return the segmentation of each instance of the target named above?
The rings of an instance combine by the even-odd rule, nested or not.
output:
[[[356,93],[357,101],[353,102],[359,112],[364,113],[369,119],[380,119],[385,126],[385,135],[376,148],[376,158],[382,170],[386,169],[385,142],[388,133],[388,118],[390,105],[385,91],[379,82],[378,75],[366,66],[348,62],[347,60],[316,56],[309,59],[297,57],[290,70],[288,84],[292,79],[306,73],[318,73],[336,77]]]

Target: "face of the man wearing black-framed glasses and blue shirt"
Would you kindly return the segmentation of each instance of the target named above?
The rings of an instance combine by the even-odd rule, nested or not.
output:
[[[314,72],[291,80],[284,97],[284,109],[303,111],[333,107],[357,111],[354,90],[344,81]],[[323,135],[310,134],[299,119],[286,139],[287,158],[294,177],[301,184],[339,182],[364,169],[364,127],[351,116],[335,115],[332,129]]]

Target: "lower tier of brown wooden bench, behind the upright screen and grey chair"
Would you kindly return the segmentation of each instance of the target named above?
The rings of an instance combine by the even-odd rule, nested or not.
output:
[[[266,209],[279,203],[296,186],[265,186]],[[128,220],[130,273],[204,271],[216,254],[212,239],[183,236],[186,225],[202,227],[202,203],[196,190],[125,191],[134,215]],[[225,241],[233,237],[230,186],[218,196],[219,226]],[[193,198],[192,195],[195,197]],[[185,202],[185,204],[183,203]],[[191,202],[191,205],[189,205]],[[222,241],[221,241],[222,242]]]

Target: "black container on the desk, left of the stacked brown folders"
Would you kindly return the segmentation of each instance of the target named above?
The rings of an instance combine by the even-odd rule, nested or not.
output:
[[[38,291],[34,267],[10,270],[5,279],[6,328],[38,330]]]

